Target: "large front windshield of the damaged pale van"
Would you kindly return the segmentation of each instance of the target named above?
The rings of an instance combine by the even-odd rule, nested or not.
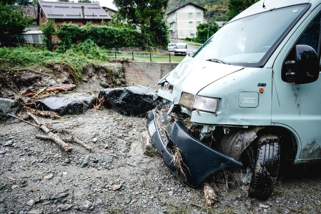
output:
[[[218,30],[193,57],[227,64],[262,66],[307,4],[280,8],[232,21]]]

